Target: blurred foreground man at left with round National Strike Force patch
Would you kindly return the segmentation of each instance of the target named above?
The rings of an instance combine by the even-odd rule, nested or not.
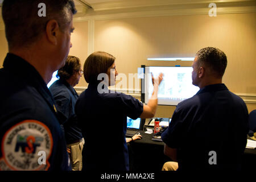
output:
[[[39,4],[46,16],[39,16]],[[67,145],[51,92],[52,73],[71,44],[72,0],[5,0],[9,53],[0,69],[1,170],[70,170]]]

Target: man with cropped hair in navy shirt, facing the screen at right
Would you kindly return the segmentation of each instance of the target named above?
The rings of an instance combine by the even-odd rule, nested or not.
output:
[[[206,47],[196,53],[192,84],[200,90],[177,105],[162,134],[164,154],[175,162],[163,170],[241,169],[249,129],[243,100],[222,84],[224,52]]]

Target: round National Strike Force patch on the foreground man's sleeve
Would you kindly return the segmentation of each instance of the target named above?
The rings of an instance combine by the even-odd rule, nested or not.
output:
[[[52,134],[44,123],[36,120],[19,122],[3,136],[0,169],[47,170],[52,147]]]

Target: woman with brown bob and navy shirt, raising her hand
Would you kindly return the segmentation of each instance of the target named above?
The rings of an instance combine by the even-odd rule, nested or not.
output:
[[[154,84],[151,100],[148,105],[143,105],[132,96],[110,92],[108,86],[114,85],[117,75],[115,57],[109,53],[94,52],[85,61],[84,77],[89,85],[81,93],[75,107],[85,138],[82,170],[129,170],[125,140],[126,118],[154,117],[159,84]],[[162,81],[162,76],[159,75],[159,82]],[[154,78],[152,81],[154,82]]]

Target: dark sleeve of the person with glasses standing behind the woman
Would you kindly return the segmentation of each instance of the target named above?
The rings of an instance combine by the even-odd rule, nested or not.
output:
[[[69,99],[64,96],[55,98],[58,119],[61,125],[68,120],[69,117]]]

